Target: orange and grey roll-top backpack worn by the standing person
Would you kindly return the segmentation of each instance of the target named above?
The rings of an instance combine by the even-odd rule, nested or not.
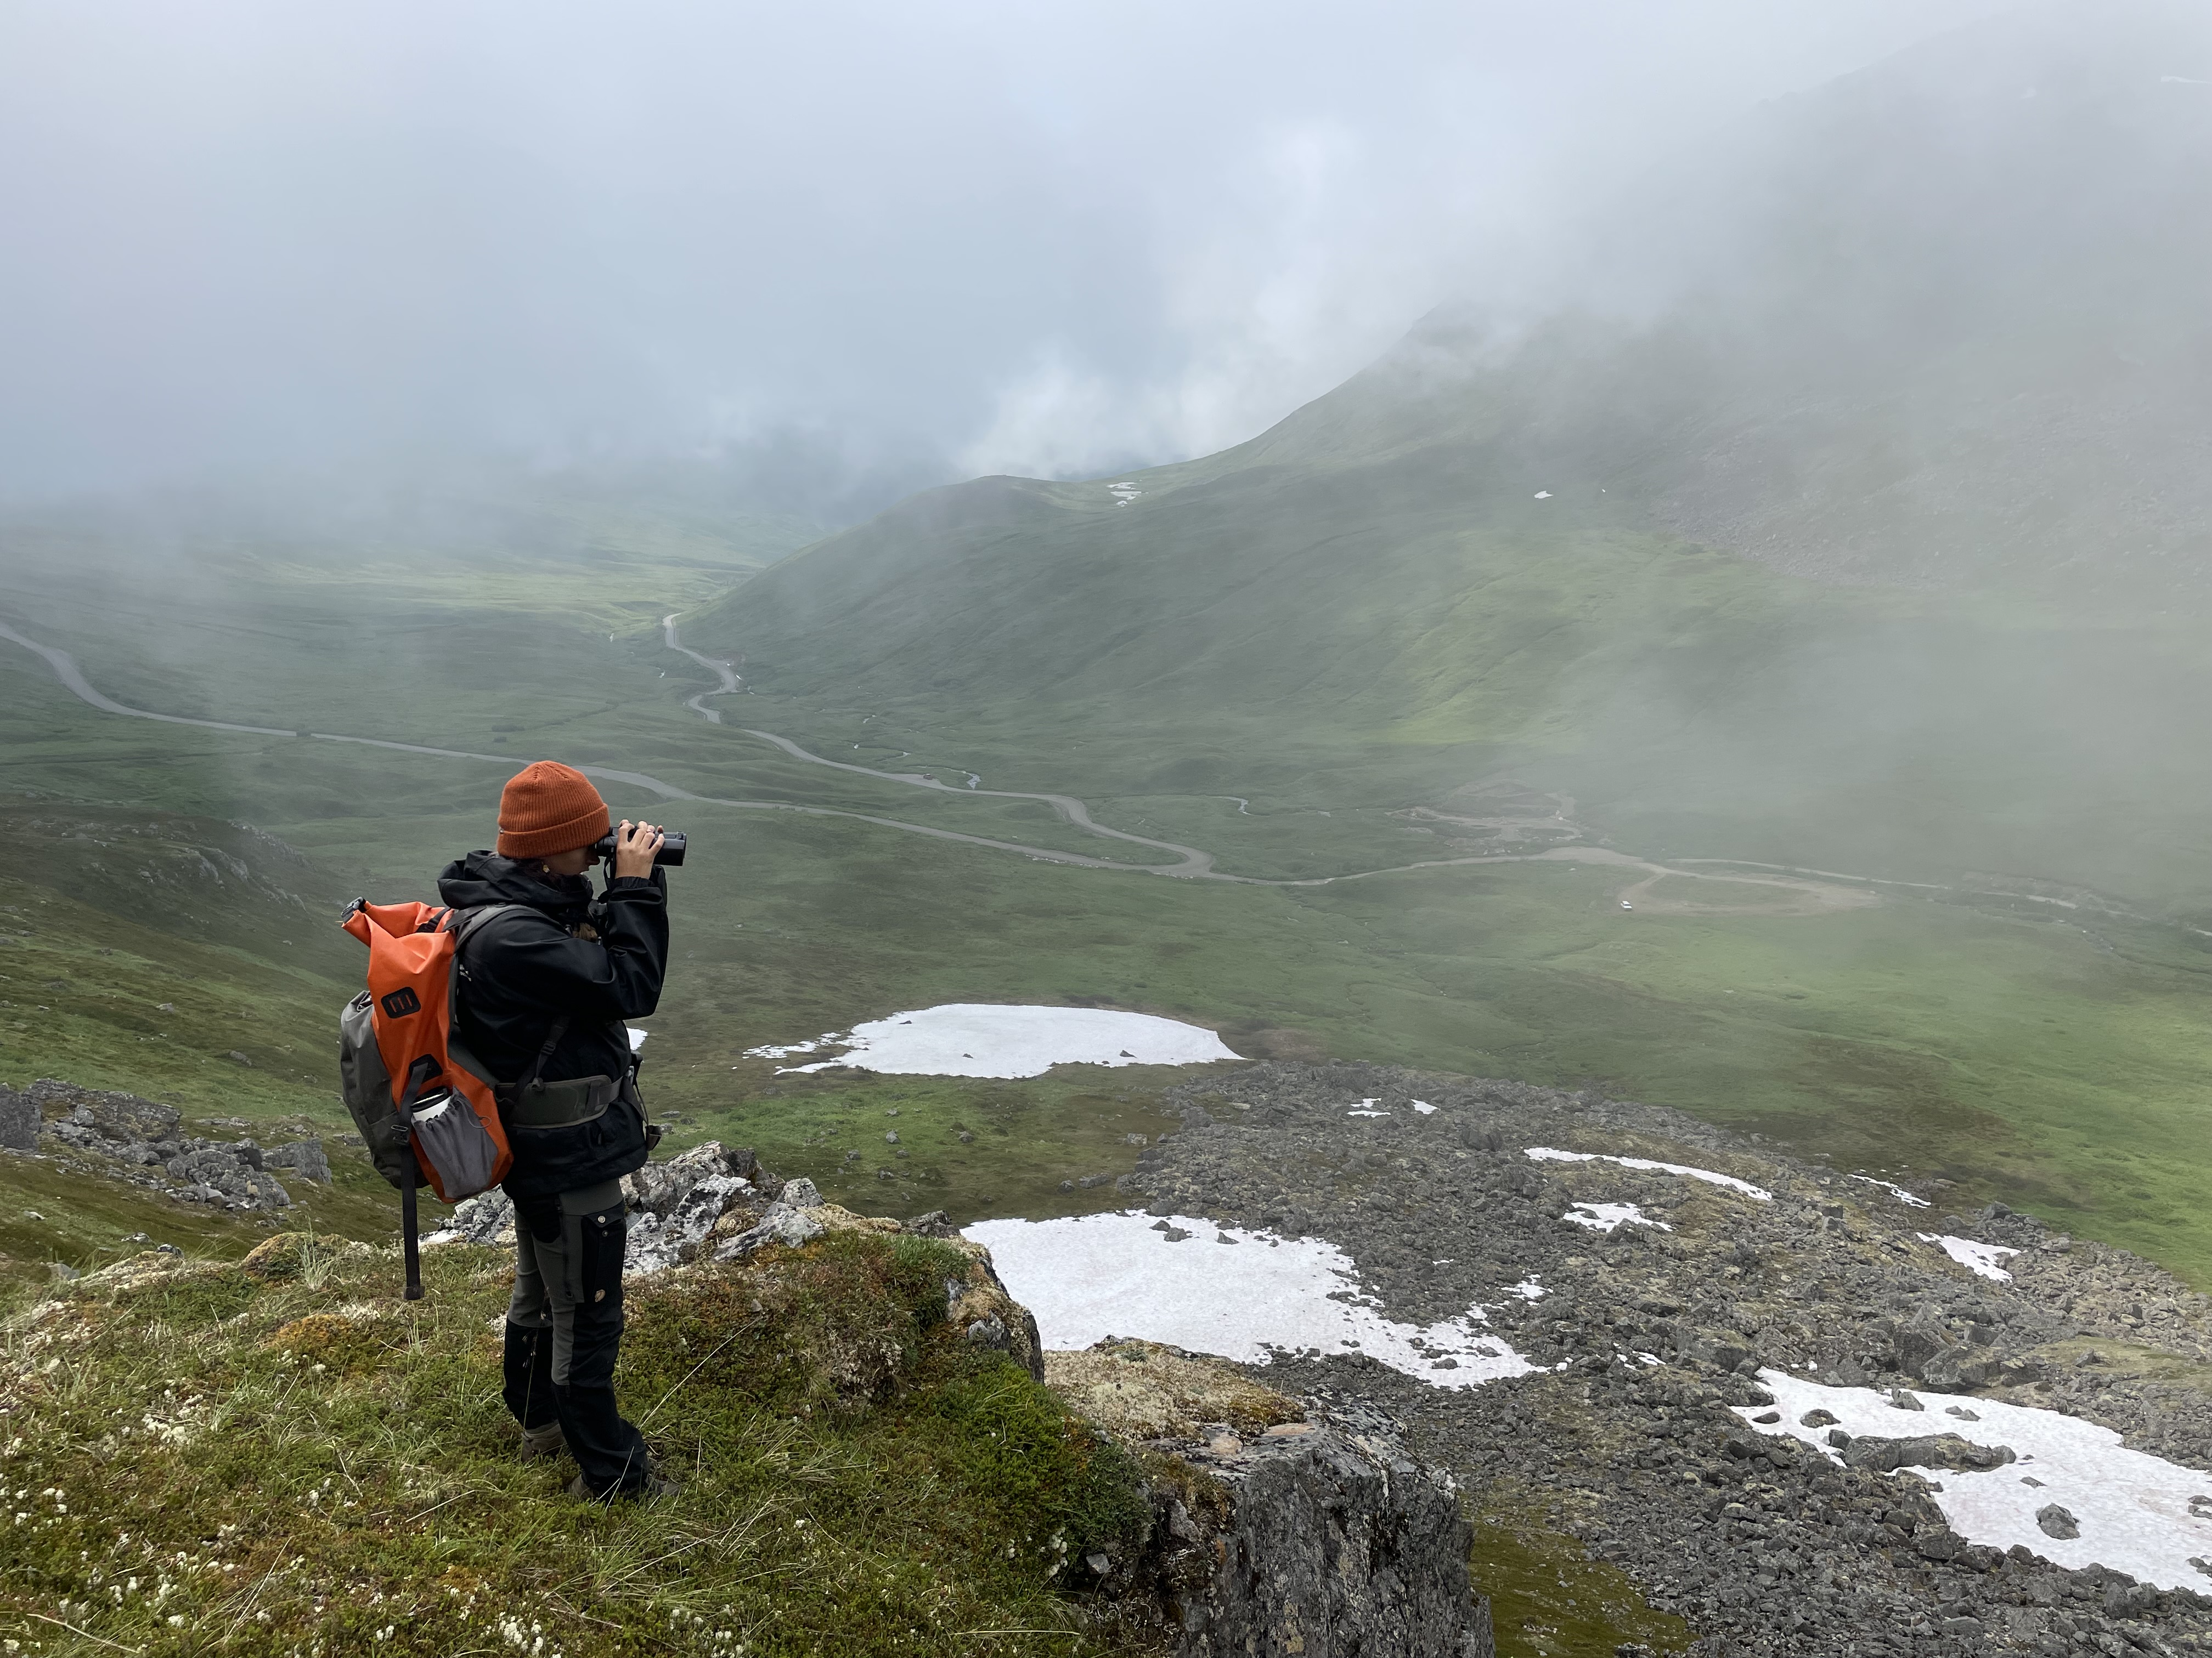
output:
[[[338,1015],[338,1077],[376,1172],[400,1189],[407,1300],[422,1298],[416,1183],[427,1178],[440,1200],[460,1203],[495,1187],[513,1163],[491,1074],[453,1035],[453,957],[509,909],[520,906],[356,898],[341,922],[369,946],[369,988]]]

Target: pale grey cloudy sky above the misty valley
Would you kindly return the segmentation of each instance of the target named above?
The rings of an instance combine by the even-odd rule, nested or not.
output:
[[[1989,0],[0,0],[0,493],[1252,436]]]

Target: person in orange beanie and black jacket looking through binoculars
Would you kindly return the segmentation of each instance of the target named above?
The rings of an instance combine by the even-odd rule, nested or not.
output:
[[[661,999],[668,875],[661,831],[622,822],[606,891],[586,871],[608,809],[582,772],[538,760],[500,794],[498,851],[438,875],[453,909],[513,904],[462,946],[456,1037],[500,1079],[513,1147],[502,1185],[515,1205],[515,1293],[507,1309],[504,1397],[522,1459],[568,1450],[571,1497],[664,1497],[644,1435],[615,1404],[622,1353],[622,1176],[646,1163],[626,1019]]]

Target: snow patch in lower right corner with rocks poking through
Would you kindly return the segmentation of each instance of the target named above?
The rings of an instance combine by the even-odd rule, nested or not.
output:
[[[1918,1395],[1924,1413],[1898,1410],[1874,1388],[1827,1388],[1781,1371],[1761,1371],[1759,1386],[1774,1395],[1781,1424],[1752,1421],[1765,1406],[1734,1406],[1736,1415],[1834,1461],[1840,1457],[1827,1446],[1827,1424],[1801,1424],[1807,1410],[1827,1410],[1854,1437],[1955,1433],[1978,1446],[2011,1446],[2017,1461],[1982,1475],[1924,1470],[1940,1486],[1936,1505],[1969,1543],[2026,1543],[2057,1565],[2104,1565],[2161,1589],[2205,1585],[2208,1572],[2192,1561],[2212,1559],[2212,1475],[2128,1450],[2112,1428],[1997,1399],[1962,1399],[1958,1408],[1978,1417],[1969,1421],[1947,1415],[1940,1393]],[[2081,1534],[2051,1536],[2035,1521],[2044,1508],[2064,1508]]]

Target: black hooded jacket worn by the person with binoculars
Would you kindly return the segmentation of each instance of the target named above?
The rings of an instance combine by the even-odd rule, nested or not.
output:
[[[462,946],[456,1035],[511,1090],[529,1079],[553,1021],[568,1028],[544,1081],[622,1079],[630,1070],[626,1019],[661,1001],[668,968],[668,878],[622,875],[593,898],[584,875],[538,875],[513,858],[471,851],[438,873],[453,909],[524,904],[493,915]],[[509,1130],[515,1165],[504,1189],[518,1205],[575,1192],[644,1167],[646,1116],[635,1088],[588,1123]]]

